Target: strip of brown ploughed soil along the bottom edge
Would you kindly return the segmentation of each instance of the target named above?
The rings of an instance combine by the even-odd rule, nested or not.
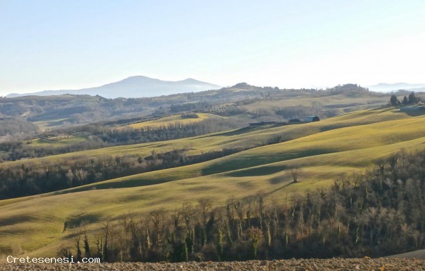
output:
[[[188,263],[2,264],[0,270],[425,270],[416,258],[332,258]]]

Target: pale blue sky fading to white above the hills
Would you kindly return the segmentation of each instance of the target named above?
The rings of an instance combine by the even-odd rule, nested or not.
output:
[[[0,95],[135,75],[279,88],[425,83],[425,1],[0,0]]]

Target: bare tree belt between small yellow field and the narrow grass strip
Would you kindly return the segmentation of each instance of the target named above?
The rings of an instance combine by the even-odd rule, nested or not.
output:
[[[193,115],[195,114],[192,114],[192,117],[194,117]],[[190,115],[185,115],[185,117],[190,117]],[[9,140],[5,142],[0,142],[0,162],[17,161],[22,158],[38,158],[116,145],[187,138],[191,136],[200,136],[206,133],[235,129],[240,126],[241,125],[237,122],[212,119],[190,124],[176,122],[175,124],[168,124],[167,126],[147,126],[140,129],[133,129],[131,127],[126,127],[125,129],[111,129],[108,127],[87,125],[66,129],[65,131],[50,131],[42,135],[42,139],[45,140],[49,140],[49,137],[63,136],[63,134],[85,137],[85,140],[82,142],[76,142],[74,144],[69,143],[64,146],[52,144],[50,147],[46,147],[45,145],[39,147],[38,145],[32,144],[31,140],[9,138]]]

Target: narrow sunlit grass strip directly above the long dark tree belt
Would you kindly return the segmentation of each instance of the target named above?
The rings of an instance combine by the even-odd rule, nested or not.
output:
[[[67,161],[69,159],[78,159],[89,156],[149,156],[153,150],[159,154],[166,151],[172,151],[173,149],[188,149],[187,154],[194,155],[208,151],[218,151],[224,148],[257,147],[259,145],[265,145],[270,140],[276,140],[276,137],[279,137],[281,141],[287,141],[347,126],[358,126],[373,124],[375,122],[385,122],[387,120],[403,119],[412,119],[412,117],[406,115],[406,113],[399,113],[398,110],[396,111],[388,108],[380,110],[360,110],[354,113],[348,113],[310,124],[294,124],[278,127],[247,127],[233,131],[197,136],[194,138],[182,138],[164,142],[147,142],[136,145],[121,145],[102,149],[91,149],[88,151],[76,151],[69,154],[60,154],[43,158],[26,159],[24,161],[13,161],[2,163],[0,167],[5,168],[10,165],[20,166],[22,163],[63,163],[63,161]],[[72,140],[72,138],[63,138],[58,140],[59,142],[55,143],[59,144],[60,142],[66,142],[67,140]],[[79,139],[74,138],[74,140]]]

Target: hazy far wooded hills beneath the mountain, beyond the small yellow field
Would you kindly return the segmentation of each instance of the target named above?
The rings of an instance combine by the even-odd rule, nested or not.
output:
[[[153,93],[158,95],[158,92]],[[94,122],[135,122],[192,111],[237,116],[237,120],[242,117],[244,120],[282,121],[306,115],[332,117],[376,108],[389,100],[388,94],[368,92],[353,84],[328,90],[281,90],[239,83],[219,90],[136,99],[75,94],[3,98],[0,99],[0,116],[22,118],[42,130]]]

